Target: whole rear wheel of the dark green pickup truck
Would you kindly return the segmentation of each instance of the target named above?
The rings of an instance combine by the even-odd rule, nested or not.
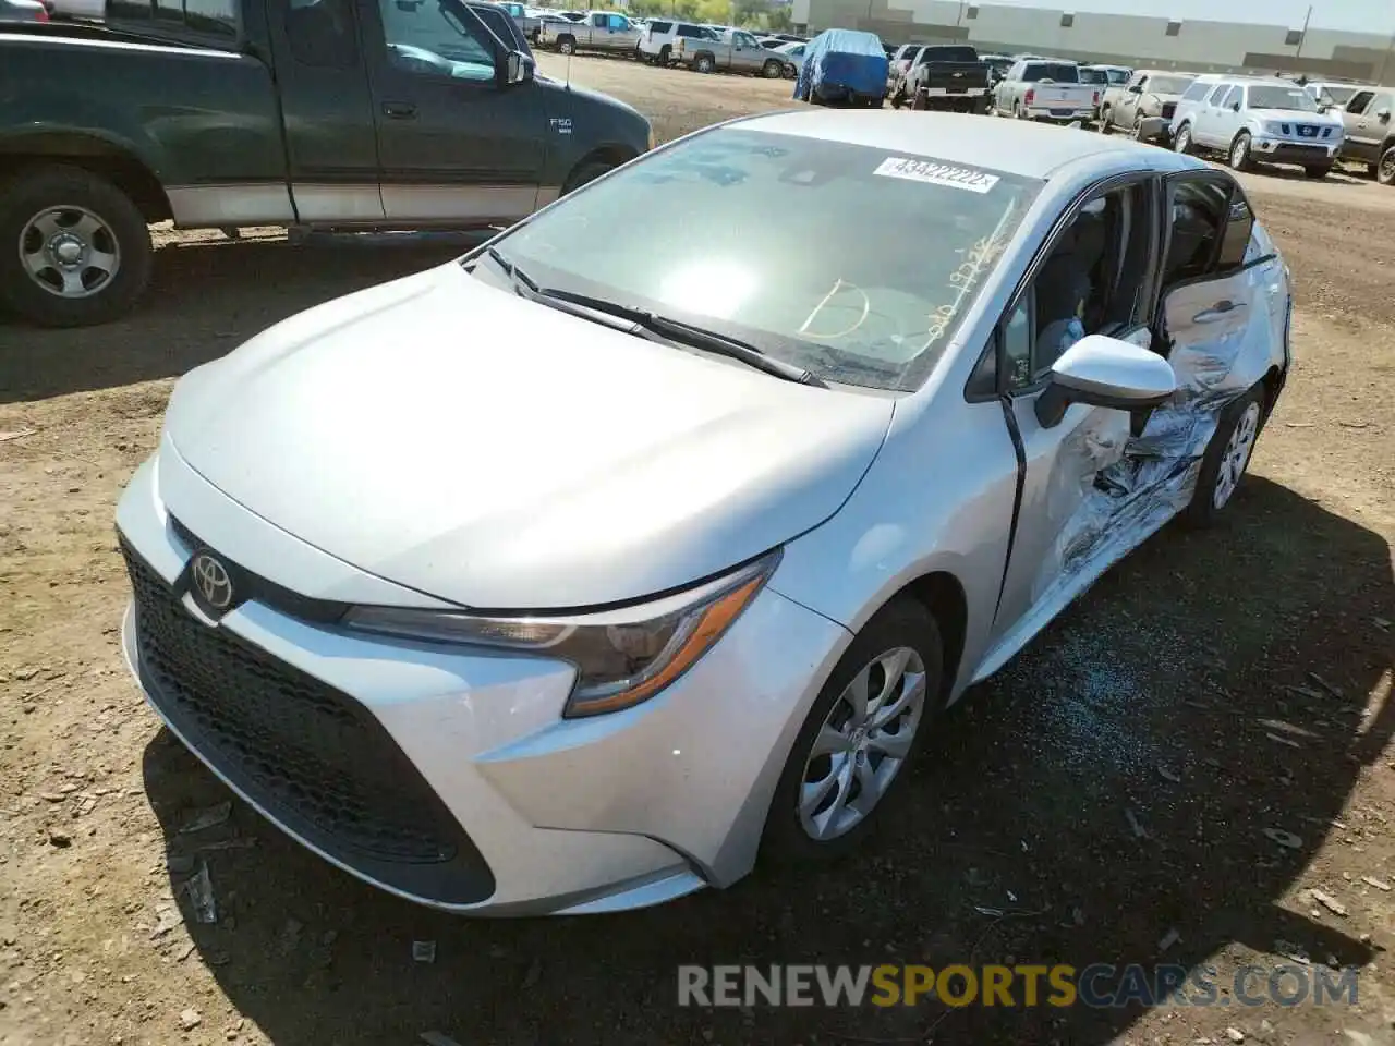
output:
[[[0,187],[0,298],[43,326],[105,324],[151,282],[151,232],[121,190],[81,167]]]

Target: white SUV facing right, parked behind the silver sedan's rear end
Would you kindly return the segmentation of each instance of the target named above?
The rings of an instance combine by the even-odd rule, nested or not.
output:
[[[1222,74],[1197,77],[1172,117],[1177,152],[1221,152],[1236,170],[1293,163],[1310,179],[1332,170],[1342,130],[1338,114],[1292,81]]]

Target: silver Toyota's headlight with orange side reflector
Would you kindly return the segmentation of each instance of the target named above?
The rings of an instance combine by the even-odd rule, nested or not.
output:
[[[692,668],[751,604],[778,562],[776,549],[695,589],[624,609],[509,618],[354,607],[343,625],[571,661],[576,683],[564,715],[598,715],[649,700]]]

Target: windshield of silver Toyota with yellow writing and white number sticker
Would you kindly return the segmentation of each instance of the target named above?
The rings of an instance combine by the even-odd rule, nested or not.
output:
[[[720,128],[587,185],[492,245],[550,290],[677,318],[829,382],[908,391],[954,338],[1041,185]],[[777,212],[816,215],[815,240],[764,232]]]

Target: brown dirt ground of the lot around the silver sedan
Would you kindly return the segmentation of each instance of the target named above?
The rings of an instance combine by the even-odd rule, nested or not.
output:
[[[603,59],[569,73],[661,138],[790,93]],[[0,1042],[1395,1040],[1395,192],[1246,184],[1297,280],[1297,363],[1226,523],[1159,534],[972,695],[914,781],[919,816],[866,854],[622,916],[444,918],[236,802],[181,831],[227,794],[117,650],[113,503],[173,378],[456,248],[166,234],[128,319],[0,319],[0,434],[24,434],[0,441]],[[183,886],[201,863],[213,923]],[[1226,983],[1292,955],[1360,967],[1357,1004],[675,1004],[682,962],[1177,962]]]

